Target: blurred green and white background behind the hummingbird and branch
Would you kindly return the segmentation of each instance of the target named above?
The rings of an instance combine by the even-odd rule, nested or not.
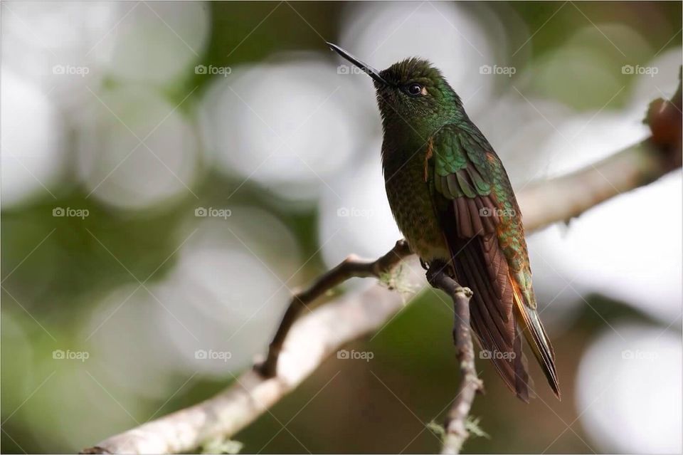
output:
[[[680,2],[0,9],[6,453],[78,451],[210,397],[265,352],[292,288],[399,238],[371,81],[324,40],[380,69],[433,61],[519,190],[646,137],[682,61]],[[534,366],[523,404],[480,360],[490,438],[467,451],[682,450],[681,190],[676,172],[531,236],[563,401]],[[425,291],[235,440],[438,451],[451,322]]]

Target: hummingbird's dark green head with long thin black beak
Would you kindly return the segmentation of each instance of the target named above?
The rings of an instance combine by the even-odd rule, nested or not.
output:
[[[374,80],[385,131],[412,127],[420,135],[431,135],[464,115],[460,98],[428,61],[407,58],[378,71],[339,46],[328,44]]]

